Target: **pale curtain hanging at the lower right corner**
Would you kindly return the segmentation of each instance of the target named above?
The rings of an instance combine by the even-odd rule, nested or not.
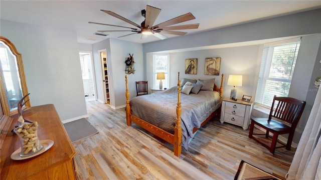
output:
[[[304,127],[287,180],[321,179],[321,90],[318,90]]]

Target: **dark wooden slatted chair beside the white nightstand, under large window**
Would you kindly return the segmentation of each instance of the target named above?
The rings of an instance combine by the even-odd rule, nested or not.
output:
[[[291,143],[295,131],[297,122],[299,121],[301,114],[305,106],[305,101],[300,101],[292,97],[276,97],[274,95],[272,107],[268,118],[251,118],[251,126],[249,132],[249,138],[253,138],[264,147],[268,148],[271,153],[274,153],[275,148],[286,147],[290,150]],[[272,117],[281,121],[287,122],[289,125],[282,123],[277,120],[273,120]],[[253,133],[254,125],[258,125],[266,130],[265,134]],[[253,135],[265,135],[269,138],[269,132],[273,133],[272,143],[268,145],[261,141],[258,137],[255,138]],[[286,145],[276,147],[277,137],[279,134],[288,133]]]

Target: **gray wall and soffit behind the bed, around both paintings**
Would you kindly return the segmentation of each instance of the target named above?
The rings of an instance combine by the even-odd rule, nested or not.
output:
[[[254,98],[263,46],[262,44],[258,44],[257,41],[263,39],[273,40],[282,37],[290,38],[292,36],[302,35],[297,65],[294,72],[295,74],[292,78],[293,85],[291,85],[289,95],[301,100],[315,98],[315,91],[311,90],[309,87],[311,87],[310,84],[314,83],[312,74],[315,74],[316,69],[313,68],[313,64],[320,60],[317,58],[317,54],[320,56],[321,53],[319,47],[319,36],[321,33],[320,16],[321,9],[316,9],[196,34],[184,35],[162,41],[145,43],[143,45],[143,50],[144,54],[146,54],[146,77],[148,79],[152,74],[152,71],[149,70],[149,68],[152,67],[152,52],[181,51],[179,53],[171,53],[171,85],[176,84],[177,71],[183,72],[181,73],[181,77],[194,77],[194,75],[184,74],[185,58],[199,58],[198,74],[195,75],[199,76],[199,73],[204,73],[204,58],[207,57],[207,55],[209,55],[209,57],[221,56],[220,73],[225,74],[223,96],[229,96],[231,89],[231,87],[226,85],[228,74],[243,74],[244,84],[242,87],[237,87],[237,98],[240,98],[243,94],[252,95]],[[315,35],[313,35],[314,33]],[[250,41],[256,41],[255,43],[257,45],[246,46]],[[237,45],[244,43],[244,46],[225,48],[213,47],[211,50],[193,50],[193,48],[202,49],[209,48],[210,46],[233,46],[235,43],[237,43]],[[249,57],[249,59],[247,59],[247,57]],[[204,75],[201,76],[202,78],[206,78]],[[217,83],[219,78],[218,76],[215,77]],[[313,105],[312,100],[306,101],[307,104],[294,135],[294,142],[299,141],[310,109]],[[262,116],[264,113],[253,109],[252,115]]]

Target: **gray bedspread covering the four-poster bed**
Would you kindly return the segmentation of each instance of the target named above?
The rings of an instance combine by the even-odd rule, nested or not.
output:
[[[217,108],[221,107],[220,94],[217,91],[200,90],[198,94],[181,93],[182,143],[187,149],[193,128],[201,123]],[[145,121],[174,134],[177,86],[167,90],[134,97],[130,100],[131,113]]]

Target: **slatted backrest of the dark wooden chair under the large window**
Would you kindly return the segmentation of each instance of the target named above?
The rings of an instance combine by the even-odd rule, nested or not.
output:
[[[293,97],[277,97],[274,95],[269,119],[275,117],[280,120],[284,120],[291,123],[292,127],[295,128],[301,117],[304,106],[305,101],[301,101]]]

